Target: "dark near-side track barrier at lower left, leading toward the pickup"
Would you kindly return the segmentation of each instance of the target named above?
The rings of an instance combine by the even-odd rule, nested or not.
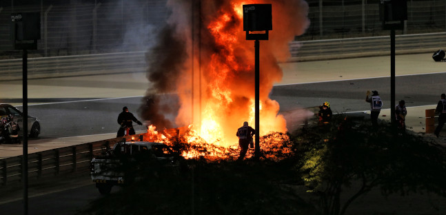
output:
[[[132,136],[138,136],[135,134]],[[107,145],[121,141],[121,138],[108,139],[80,145],[61,147],[28,154],[28,178],[39,179],[89,171],[94,155],[101,154]],[[0,186],[21,181],[23,156],[14,156],[0,160]]]

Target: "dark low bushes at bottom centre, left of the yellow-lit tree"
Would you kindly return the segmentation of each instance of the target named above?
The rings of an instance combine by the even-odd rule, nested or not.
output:
[[[293,189],[294,163],[188,160],[91,203],[83,214],[314,214]]]

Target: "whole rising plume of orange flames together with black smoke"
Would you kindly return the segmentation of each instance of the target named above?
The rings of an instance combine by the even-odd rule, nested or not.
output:
[[[282,79],[278,63],[310,24],[303,0],[171,0],[171,15],[146,53],[150,88],[139,112],[157,129],[192,125],[207,143],[238,143],[236,130],[254,127],[254,41],[243,31],[245,4],[271,3],[272,30],[260,41],[260,135],[286,132],[270,99]]]

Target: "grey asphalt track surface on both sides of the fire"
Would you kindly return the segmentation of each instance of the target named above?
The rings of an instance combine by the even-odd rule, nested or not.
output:
[[[324,101],[330,101],[335,113],[361,112],[369,109],[369,104],[364,101],[365,92],[372,89],[380,89],[381,99],[385,107],[389,107],[389,83],[389,77],[381,77],[276,85],[270,93],[270,98],[278,101],[281,112],[318,106]],[[404,99],[407,107],[432,105],[438,101],[438,95],[444,90],[446,73],[397,76],[395,83],[396,100]],[[175,100],[175,94],[170,96]],[[39,139],[108,134],[118,130],[119,124],[116,119],[123,105],[128,106],[130,112],[139,118],[137,109],[143,102],[142,99],[142,96],[39,99],[41,104],[29,105],[28,113],[37,116],[41,121],[42,131]],[[135,125],[135,128],[144,130],[144,127],[139,125]]]

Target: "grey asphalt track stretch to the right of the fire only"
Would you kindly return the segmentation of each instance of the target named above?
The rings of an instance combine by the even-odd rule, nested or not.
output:
[[[445,90],[446,73],[396,76],[396,101],[404,99],[407,107],[436,104]],[[367,90],[378,90],[384,107],[390,107],[390,77],[323,81],[276,85],[270,97],[281,105],[281,111],[312,107],[329,101],[333,112],[369,110],[365,103]],[[398,103],[396,103],[398,104]]]

